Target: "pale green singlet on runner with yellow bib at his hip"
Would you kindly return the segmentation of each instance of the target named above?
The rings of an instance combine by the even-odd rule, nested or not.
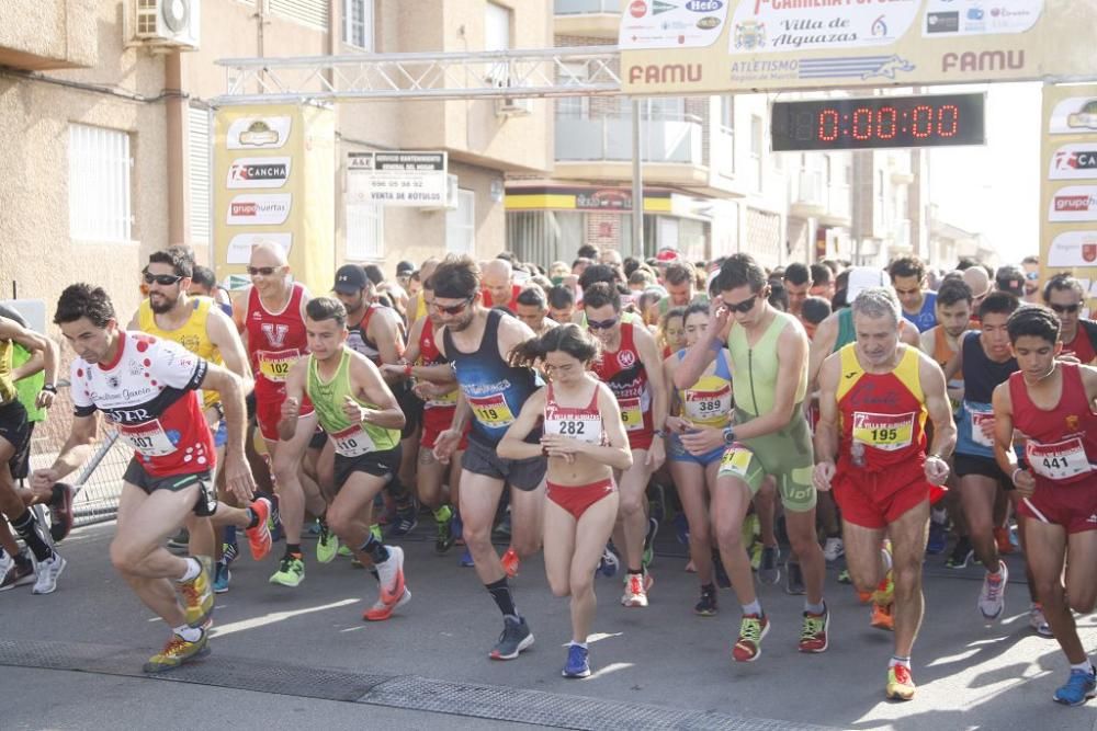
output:
[[[735,406],[750,416],[760,416],[773,409],[777,400],[777,341],[785,328],[794,328],[795,318],[787,312],[776,312],[773,321],[755,343],[747,344],[747,331],[736,323],[727,333],[727,350],[732,354],[732,373],[735,374]],[[796,385],[796,403],[807,393],[807,368],[801,369]]]

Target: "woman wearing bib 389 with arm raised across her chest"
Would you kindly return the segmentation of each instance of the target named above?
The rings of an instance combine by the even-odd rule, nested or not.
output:
[[[687,350],[704,335],[708,327],[709,306],[690,305],[686,309],[686,347],[663,363],[664,380],[674,393],[674,415],[667,416],[670,475],[689,525],[690,559],[701,582],[701,598],[693,612],[702,617],[716,614],[709,501],[716,489],[720,459],[724,456],[723,431],[732,415],[731,353],[721,349],[719,356],[705,367],[704,375],[690,388],[676,389],[674,382],[678,364]],[[721,444],[705,455],[694,456],[682,446],[681,435],[704,429],[717,430]]]

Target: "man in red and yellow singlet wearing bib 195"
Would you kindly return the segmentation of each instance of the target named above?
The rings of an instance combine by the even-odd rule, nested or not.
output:
[[[930,486],[948,478],[945,458],[955,445],[955,425],[940,368],[898,342],[900,305],[892,290],[866,289],[852,310],[857,342],[828,357],[819,375],[812,481],[818,490],[834,489],[850,576],[858,590],[877,590],[873,625],[881,624],[881,613],[894,617],[886,695],[909,700],[911,651],[925,610]],[[934,424],[928,457],[927,416]],[[891,549],[883,549],[882,561],[885,539]]]

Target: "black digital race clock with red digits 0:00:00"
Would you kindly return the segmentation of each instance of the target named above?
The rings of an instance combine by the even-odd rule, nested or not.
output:
[[[984,94],[773,102],[774,152],[983,145]]]

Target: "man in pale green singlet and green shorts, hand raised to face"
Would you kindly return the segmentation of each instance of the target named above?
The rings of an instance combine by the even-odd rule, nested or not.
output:
[[[689,349],[675,373],[675,386],[695,384],[721,350],[716,333],[734,320],[727,336],[732,374],[736,378],[735,426],[723,432],[683,434],[682,445],[705,455],[723,444],[724,453],[712,498],[713,523],[724,568],[743,606],[739,636],[732,655],[753,662],[761,655],[769,617],[755,593],[742,527],[750,499],[762,479],[773,476],[784,504],[792,550],[800,557],[806,599],[800,636],[801,652],[827,649],[830,614],[823,601],[826,561],[815,536],[815,488],[812,487],[812,441],[804,419],[807,395],[807,336],[791,315],[767,301],[765,271],[749,254],[728,256],[716,277],[723,307],[704,335]]]

